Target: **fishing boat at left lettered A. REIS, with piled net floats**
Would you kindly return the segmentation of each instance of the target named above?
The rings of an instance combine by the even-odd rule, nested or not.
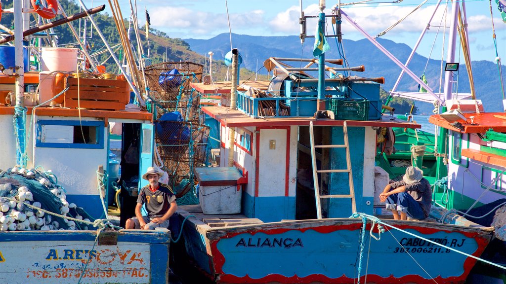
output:
[[[14,1],[13,9],[0,10],[14,13],[16,27],[13,35],[2,39],[14,40],[14,46],[0,46],[4,55],[0,60],[0,279],[7,283],[167,283],[170,232],[121,229],[109,219],[108,211],[109,199],[116,201],[115,213],[119,213],[119,200],[135,202],[138,188],[146,184],[135,176],[142,176],[153,164],[153,115],[128,105],[131,89],[139,105],[144,101],[122,67],[122,75],[104,74],[90,59],[95,72],[82,71],[86,68],[78,53],[88,57],[86,49],[36,48],[43,70],[24,69],[28,59],[23,36],[79,17],[89,17],[96,26],[90,15],[105,8],[88,10],[81,2],[86,11],[23,31],[23,17],[30,14],[22,11],[56,17],[58,2],[47,2],[47,7],[39,7],[32,1],[33,9],[27,10],[28,1]],[[61,7],[59,13],[65,13]],[[112,181],[118,165],[109,159],[113,122],[123,124],[124,186],[117,192]]]

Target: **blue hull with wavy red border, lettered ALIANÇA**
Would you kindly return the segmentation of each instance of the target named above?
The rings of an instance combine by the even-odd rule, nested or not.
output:
[[[476,263],[473,258],[388,227],[376,241],[369,236],[370,223],[360,254],[361,219],[283,221],[208,229],[203,223],[194,222],[198,225],[183,228],[186,251],[219,283],[354,283],[359,274],[362,282],[459,283],[465,282]],[[477,257],[491,238],[491,229],[483,227],[388,222]],[[378,235],[377,228],[372,231]]]

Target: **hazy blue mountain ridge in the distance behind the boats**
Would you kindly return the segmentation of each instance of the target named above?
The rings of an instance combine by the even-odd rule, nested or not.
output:
[[[230,51],[230,36],[228,33],[219,34],[209,39],[184,39],[190,45],[190,49],[198,54],[206,56],[209,51],[214,53],[214,60],[221,60]],[[387,50],[396,56],[401,62],[406,62],[411,53],[411,48],[405,43],[396,43],[389,39],[377,38]],[[234,48],[239,49],[243,59],[243,66],[249,70],[257,70],[262,74],[267,73],[262,69],[264,60],[269,57],[284,58],[313,58],[312,39],[307,40],[301,48],[298,36],[252,36],[232,34]],[[335,48],[334,41],[329,42],[331,49],[326,53],[327,59],[340,58]],[[377,49],[367,39],[349,40],[343,39],[345,54],[349,66],[365,66],[365,72],[354,72],[355,75],[364,77],[385,77],[385,90],[391,90],[400,74],[401,68],[391,61],[385,54]],[[427,68],[425,66],[427,65]],[[481,99],[487,111],[502,112],[502,104],[497,101],[501,98],[500,83],[497,76],[497,65],[491,61],[472,61],[473,78],[478,99]],[[441,61],[427,59],[419,54],[414,54],[410,69],[417,75],[425,73],[429,86],[435,92],[439,92]],[[444,67],[444,64],[443,64]],[[506,67],[501,66],[503,74],[506,74]],[[469,93],[471,88],[467,78],[465,64],[460,64],[458,71],[458,92]],[[444,77],[442,78],[444,82]],[[418,83],[409,76],[404,75],[397,90],[417,91]],[[455,90],[454,90],[455,91]],[[416,102],[420,113],[432,114],[433,106],[429,103]]]

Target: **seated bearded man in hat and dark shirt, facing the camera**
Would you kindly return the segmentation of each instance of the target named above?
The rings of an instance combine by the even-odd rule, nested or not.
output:
[[[142,176],[149,181],[149,184],[139,191],[135,207],[137,217],[126,220],[125,228],[152,230],[156,227],[168,227],[168,218],[176,212],[178,205],[171,186],[158,182],[161,176],[163,172],[153,167],[149,167]],[[144,204],[146,204],[148,216],[142,216],[141,209]]]

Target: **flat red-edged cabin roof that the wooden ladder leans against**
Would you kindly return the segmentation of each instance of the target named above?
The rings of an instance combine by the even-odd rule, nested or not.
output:
[[[290,118],[252,118],[239,110],[230,110],[226,107],[202,107],[202,111],[218,120],[221,124],[234,126],[288,126],[288,125],[314,125],[342,126],[343,120],[316,120],[313,117],[290,117]],[[348,120],[348,126],[379,126],[379,127],[405,127],[421,128],[420,124],[407,122],[384,115],[381,120]]]

